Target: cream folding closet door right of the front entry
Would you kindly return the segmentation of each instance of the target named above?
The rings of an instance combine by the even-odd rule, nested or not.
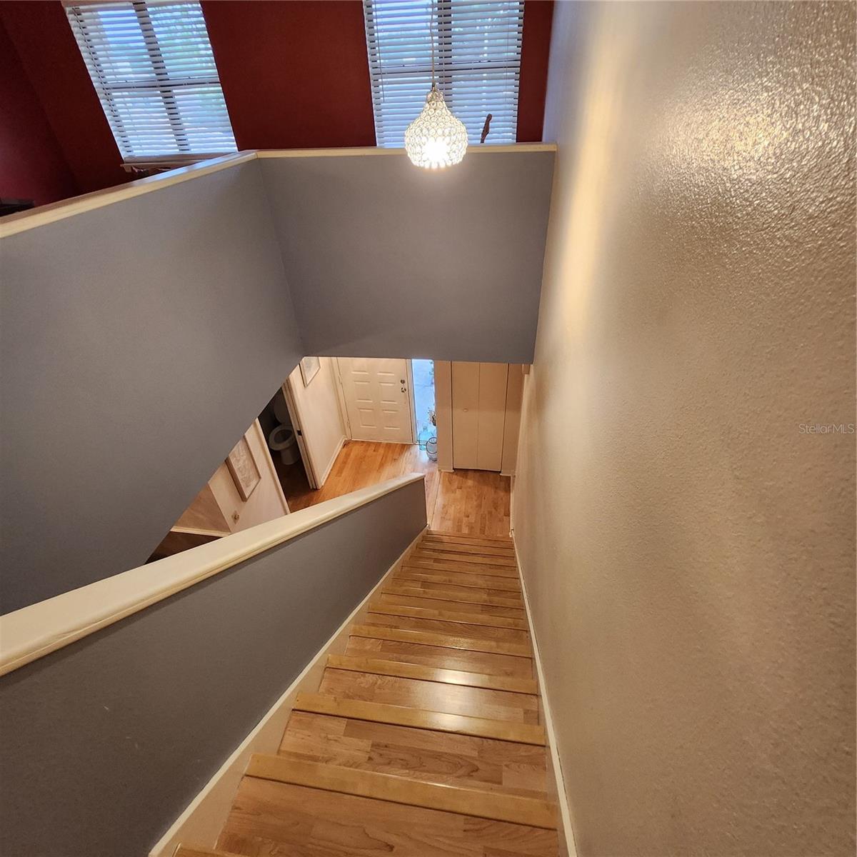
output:
[[[507,363],[452,363],[452,467],[500,470]]]

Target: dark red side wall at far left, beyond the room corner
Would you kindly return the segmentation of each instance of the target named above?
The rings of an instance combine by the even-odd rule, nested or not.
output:
[[[37,206],[77,194],[45,111],[0,21],[0,197]]]

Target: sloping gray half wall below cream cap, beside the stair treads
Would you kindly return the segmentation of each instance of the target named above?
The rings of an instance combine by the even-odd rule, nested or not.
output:
[[[0,679],[0,853],[146,854],[425,523],[412,482]]]

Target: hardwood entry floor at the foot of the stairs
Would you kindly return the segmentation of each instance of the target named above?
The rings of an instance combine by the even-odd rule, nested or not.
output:
[[[509,535],[508,476],[487,470],[440,473],[419,446],[346,441],[327,482],[309,488],[300,464],[274,462],[292,512],[407,473],[426,475],[428,526],[469,536]]]

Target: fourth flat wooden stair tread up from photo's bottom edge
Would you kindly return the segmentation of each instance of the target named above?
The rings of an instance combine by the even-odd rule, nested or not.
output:
[[[355,657],[377,657],[385,661],[417,663],[423,667],[462,669],[469,673],[508,675],[519,679],[533,677],[532,661],[523,657],[491,655],[488,652],[442,649],[439,646],[399,643],[369,637],[351,637],[345,654]]]

